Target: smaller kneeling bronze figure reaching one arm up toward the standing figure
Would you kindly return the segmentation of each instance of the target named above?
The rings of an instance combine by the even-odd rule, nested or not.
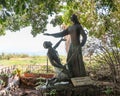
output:
[[[60,39],[54,47],[52,47],[52,43],[50,41],[45,41],[43,43],[44,48],[48,49],[47,56],[50,60],[50,63],[52,66],[54,66],[56,71],[56,76],[54,79],[57,79],[58,81],[69,78],[69,72],[66,69],[66,66],[61,64],[58,52],[55,50],[61,41],[65,41],[65,39]]]

